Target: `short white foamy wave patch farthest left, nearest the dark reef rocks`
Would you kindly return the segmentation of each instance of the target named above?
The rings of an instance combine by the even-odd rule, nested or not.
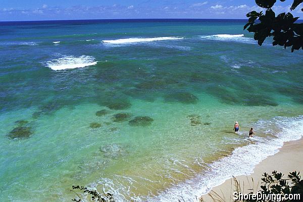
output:
[[[65,56],[63,58],[46,61],[46,67],[51,68],[52,70],[65,70],[65,69],[75,69],[82,68],[91,65],[96,65],[97,62],[91,56]]]

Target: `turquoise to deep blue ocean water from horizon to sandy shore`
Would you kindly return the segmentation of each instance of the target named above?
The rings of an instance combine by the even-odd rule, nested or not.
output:
[[[244,24],[3,23],[0,200],[69,201],[85,185],[119,201],[177,201],[241,174],[231,157],[250,170],[300,138],[301,52],[260,47]],[[214,178],[218,162],[227,169]]]

